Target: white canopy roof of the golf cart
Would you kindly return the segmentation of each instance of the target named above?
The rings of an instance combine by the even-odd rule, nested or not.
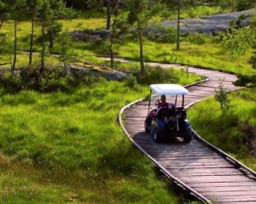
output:
[[[173,84],[173,83],[160,83],[160,84],[151,84],[149,88],[155,93],[155,94],[166,94],[166,95],[179,95],[189,94],[189,91],[186,88],[183,88],[183,86],[179,84]]]

